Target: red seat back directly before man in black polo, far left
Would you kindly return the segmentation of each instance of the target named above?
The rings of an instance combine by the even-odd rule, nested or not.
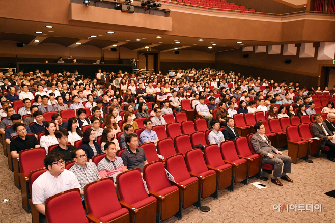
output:
[[[20,172],[25,176],[28,176],[29,172],[43,168],[45,156],[46,153],[43,148],[34,148],[20,151]]]

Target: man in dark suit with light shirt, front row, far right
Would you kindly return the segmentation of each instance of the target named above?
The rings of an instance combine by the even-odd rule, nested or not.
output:
[[[323,141],[321,141],[320,147],[323,148],[325,146],[330,147],[330,151],[327,155],[327,159],[329,159],[332,162],[335,162],[335,143],[331,142],[333,139],[333,133],[328,129],[327,125],[323,123],[322,117],[319,114],[315,114],[313,116],[313,119],[316,121],[312,125],[312,132],[315,137],[323,138]]]

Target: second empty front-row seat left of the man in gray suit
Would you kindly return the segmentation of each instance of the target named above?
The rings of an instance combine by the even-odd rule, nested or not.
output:
[[[234,183],[248,184],[247,162],[239,158],[235,149],[234,141],[224,141],[220,144],[220,151],[225,162],[231,164],[235,170]]]

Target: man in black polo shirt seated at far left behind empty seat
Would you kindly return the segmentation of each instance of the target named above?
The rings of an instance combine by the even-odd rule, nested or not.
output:
[[[10,144],[10,151],[13,158],[19,158],[19,152],[22,150],[40,147],[35,136],[27,135],[27,131],[22,122],[15,123],[13,129],[18,135]]]

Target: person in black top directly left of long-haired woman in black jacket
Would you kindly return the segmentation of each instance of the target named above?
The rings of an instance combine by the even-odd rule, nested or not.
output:
[[[63,159],[65,162],[72,161],[72,151],[75,150],[75,147],[67,145],[69,142],[69,132],[65,129],[60,129],[59,131],[55,131],[54,135],[57,138],[58,146],[52,149],[50,153],[60,153],[64,156]]]

